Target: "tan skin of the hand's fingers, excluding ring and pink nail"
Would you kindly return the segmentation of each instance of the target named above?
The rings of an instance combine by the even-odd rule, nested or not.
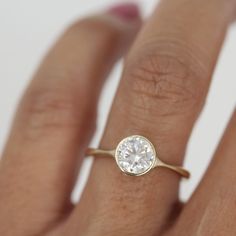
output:
[[[174,172],[126,176],[103,156],[80,202],[70,202],[99,93],[123,55],[100,147],[142,134],[163,161],[182,165],[235,10],[234,0],[165,0],[142,26],[139,15],[105,12],[66,30],[27,88],[3,152],[0,235],[235,235],[236,112],[185,204]]]

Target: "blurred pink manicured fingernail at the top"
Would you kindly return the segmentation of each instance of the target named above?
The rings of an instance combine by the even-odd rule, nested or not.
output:
[[[111,7],[108,13],[118,16],[125,21],[133,21],[140,17],[139,7],[134,3],[123,3]]]

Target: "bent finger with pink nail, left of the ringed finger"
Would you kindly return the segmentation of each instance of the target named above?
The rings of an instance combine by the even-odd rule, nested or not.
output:
[[[41,65],[0,166],[1,235],[35,235],[65,217],[102,83],[140,24],[134,10],[74,24]]]

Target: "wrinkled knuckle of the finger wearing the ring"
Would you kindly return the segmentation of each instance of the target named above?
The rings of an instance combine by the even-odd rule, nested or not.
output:
[[[126,72],[136,108],[169,115],[196,109],[201,103],[203,80],[178,56],[145,55]]]

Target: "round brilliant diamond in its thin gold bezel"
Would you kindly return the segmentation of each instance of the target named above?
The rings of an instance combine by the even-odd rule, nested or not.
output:
[[[134,135],[118,144],[115,157],[118,166],[125,173],[142,175],[153,167],[156,152],[148,139]]]

